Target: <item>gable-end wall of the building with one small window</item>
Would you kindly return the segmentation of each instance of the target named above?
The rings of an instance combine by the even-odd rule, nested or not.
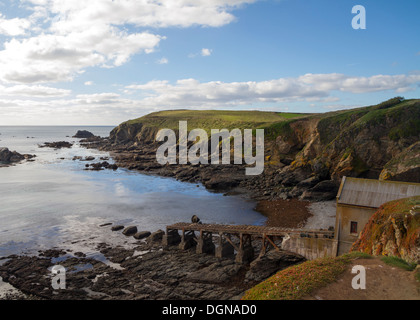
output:
[[[335,237],[338,240],[338,255],[349,252],[376,210],[376,208],[337,204]],[[350,232],[352,221],[357,222],[357,233]]]

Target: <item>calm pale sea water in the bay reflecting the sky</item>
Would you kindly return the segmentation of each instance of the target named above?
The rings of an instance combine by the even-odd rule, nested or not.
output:
[[[99,227],[108,222],[148,231],[188,222],[194,214],[204,223],[265,222],[252,201],[211,193],[202,185],[125,169],[83,170],[86,162],[73,161],[74,156],[108,154],[81,148],[79,139],[71,138],[80,129],[108,136],[112,127],[0,126],[0,147],[37,156],[34,162],[0,168],[0,257],[51,247],[94,254],[98,243],[121,240],[121,233]],[[75,145],[38,147],[53,141]]]

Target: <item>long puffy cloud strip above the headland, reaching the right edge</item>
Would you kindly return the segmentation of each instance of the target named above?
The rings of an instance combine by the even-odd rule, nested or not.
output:
[[[199,82],[195,79],[151,81],[130,85],[146,95],[142,105],[165,108],[213,108],[283,102],[336,102],[334,92],[369,93],[413,90],[420,75],[375,75],[352,77],[344,74],[306,74],[297,78],[280,78],[261,82]]]

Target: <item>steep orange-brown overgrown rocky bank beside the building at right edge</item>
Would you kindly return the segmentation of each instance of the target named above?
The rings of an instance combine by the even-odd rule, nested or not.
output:
[[[382,205],[371,217],[351,251],[397,256],[420,263],[420,196]]]

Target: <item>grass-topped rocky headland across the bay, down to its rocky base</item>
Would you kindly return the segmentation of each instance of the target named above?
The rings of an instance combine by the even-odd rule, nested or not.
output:
[[[265,170],[260,176],[244,177],[237,172],[240,166],[229,167],[223,177],[217,175],[215,166],[204,176],[204,169],[197,172],[191,166],[165,167],[161,172],[215,189],[239,185],[258,189],[266,198],[326,200],[335,197],[343,176],[420,181],[418,99],[397,97],[374,106],[323,114],[161,111],[116,127],[108,150],[119,150],[120,166],[159,169],[153,158],[158,147],[156,133],[163,128],[177,131],[179,121],[188,121],[189,130],[202,128],[208,133],[224,128],[265,130]]]

